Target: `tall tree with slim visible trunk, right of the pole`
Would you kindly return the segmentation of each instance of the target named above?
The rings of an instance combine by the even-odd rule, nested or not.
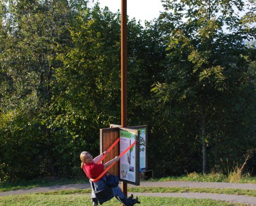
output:
[[[250,51],[255,48],[245,42],[255,37],[255,2],[162,2],[165,12],[160,19],[169,28],[165,34],[169,39],[167,70],[165,82],[156,84],[154,91],[169,111],[178,108],[184,118],[186,111],[195,116],[194,136],[201,136],[206,173],[207,147],[213,136],[220,138],[222,120],[227,119],[223,111],[238,100],[237,91],[248,89],[246,84],[254,87],[248,68],[253,62]]]

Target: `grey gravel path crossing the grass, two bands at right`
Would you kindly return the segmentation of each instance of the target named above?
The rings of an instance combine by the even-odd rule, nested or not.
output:
[[[128,187],[134,185],[128,184]],[[136,186],[137,187],[137,186]],[[255,190],[256,184],[240,184],[240,183],[225,183],[225,182],[141,182],[139,187],[195,187],[195,188],[234,188],[242,190]],[[91,188],[89,184],[66,184],[55,186],[36,187],[31,189],[23,189],[16,191],[0,192],[1,196],[22,195],[40,192],[51,192],[61,190],[78,190]],[[249,197],[244,195],[225,195],[225,194],[210,194],[210,193],[133,193],[136,196],[150,196],[150,197],[184,197],[184,198],[201,198],[224,200],[229,202],[245,203],[249,205],[256,205],[256,197]]]

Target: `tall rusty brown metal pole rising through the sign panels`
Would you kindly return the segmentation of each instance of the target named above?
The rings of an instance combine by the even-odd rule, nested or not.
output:
[[[127,0],[121,0],[121,125],[127,127]],[[122,182],[127,197],[127,183]]]

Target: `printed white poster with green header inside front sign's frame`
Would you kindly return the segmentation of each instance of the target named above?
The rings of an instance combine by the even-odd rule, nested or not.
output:
[[[122,153],[132,143],[136,141],[136,134],[120,130],[120,152]],[[122,179],[135,182],[135,146],[128,150],[121,158],[120,171]]]

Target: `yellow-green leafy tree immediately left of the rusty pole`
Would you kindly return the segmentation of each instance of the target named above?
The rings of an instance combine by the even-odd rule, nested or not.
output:
[[[78,154],[89,150],[99,152],[99,129],[119,122],[120,116],[120,16],[108,8],[79,12],[68,29],[72,38],[69,46],[58,45],[55,70],[54,107],[58,115],[54,127],[65,136],[59,150],[69,142],[69,161],[74,173],[79,173]],[[66,152],[64,152],[66,153]],[[58,157],[61,162],[63,157]]]

